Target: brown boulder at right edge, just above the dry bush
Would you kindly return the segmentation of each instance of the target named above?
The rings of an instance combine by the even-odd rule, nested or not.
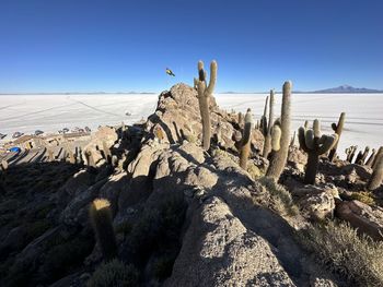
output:
[[[373,239],[383,240],[383,210],[381,207],[371,207],[360,201],[344,201],[337,204],[336,215]]]

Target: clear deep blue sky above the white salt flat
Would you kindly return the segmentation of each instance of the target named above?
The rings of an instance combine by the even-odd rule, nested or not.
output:
[[[383,0],[0,0],[0,93],[160,92],[199,59],[217,92],[383,88]]]

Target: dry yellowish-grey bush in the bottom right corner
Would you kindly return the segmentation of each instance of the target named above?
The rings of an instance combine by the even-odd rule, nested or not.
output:
[[[359,236],[347,224],[329,222],[300,235],[303,246],[349,286],[383,286],[383,242]]]

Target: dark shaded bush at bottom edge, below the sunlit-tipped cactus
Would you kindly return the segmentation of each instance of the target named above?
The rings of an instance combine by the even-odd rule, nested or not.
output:
[[[132,265],[125,265],[121,261],[101,264],[88,280],[88,287],[129,287],[138,286],[138,272]]]

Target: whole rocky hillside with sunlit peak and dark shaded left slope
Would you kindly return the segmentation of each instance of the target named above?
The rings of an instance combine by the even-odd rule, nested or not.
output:
[[[358,228],[349,232],[356,242],[368,235],[361,244],[383,250],[383,190],[364,188],[371,168],[323,157],[316,184],[303,184],[306,155],[291,146],[277,184],[264,178],[260,131],[252,132],[244,170],[239,115],[213,98],[210,111],[208,152],[197,92],[177,84],[147,121],[98,130],[83,150],[85,166],[3,170],[2,286],[380,286],[381,263],[358,276],[312,239],[327,220],[346,220]],[[103,263],[94,239],[89,206],[97,198],[111,202],[118,261]]]

